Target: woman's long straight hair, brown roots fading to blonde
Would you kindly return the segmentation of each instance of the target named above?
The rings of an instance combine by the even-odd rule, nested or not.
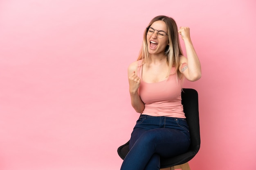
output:
[[[174,73],[171,73],[171,69],[173,66],[175,67],[175,70],[177,72],[179,67],[179,56],[183,55],[183,53],[180,47],[180,39],[179,39],[177,24],[175,20],[173,20],[173,18],[164,16],[164,15],[159,15],[157,17],[154,17],[150,21],[147,27],[151,26],[151,24],[159,20],[165,22],[168,30],[169,45],[166,46],[164,54],[166,55],[166,61],[167,61],[167,64],[169,65],[169,70],[167,74],[167,76],[169,76],[170,74],[174,74]],[[144,31],[143,43],[142,43],[137,61],[141,59],[143,59],[142,64],[147,63],[149,59],[148,44],[147,44],[147,29]]]

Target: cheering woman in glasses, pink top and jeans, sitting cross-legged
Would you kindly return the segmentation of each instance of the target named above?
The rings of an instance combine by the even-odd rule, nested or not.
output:
[[[179,34],[187,57],[182,55]],[[189,127],[181,104],[182,79],[197,81],[201,66],[189,28],[167,16],[151,20],[138,60],[128,67],[132,107],[141,113],[121,170],[159,170],[159,157],[185,153]]]

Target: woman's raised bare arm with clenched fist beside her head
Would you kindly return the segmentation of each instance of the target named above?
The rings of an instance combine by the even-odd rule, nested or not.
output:
[[[190,38],[189,27],[181,26],[178,33],[184,41],[187,54],[187,57],[180,57],[179,71],[187,80],[197,81],[201,78],[201,65]]]

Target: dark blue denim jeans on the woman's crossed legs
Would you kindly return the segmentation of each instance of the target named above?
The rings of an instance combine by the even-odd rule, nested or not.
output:
[[[141,115],[132,131],[121,170],[159,170],[160,157],[185,153],[190,145],[186,119]]]

